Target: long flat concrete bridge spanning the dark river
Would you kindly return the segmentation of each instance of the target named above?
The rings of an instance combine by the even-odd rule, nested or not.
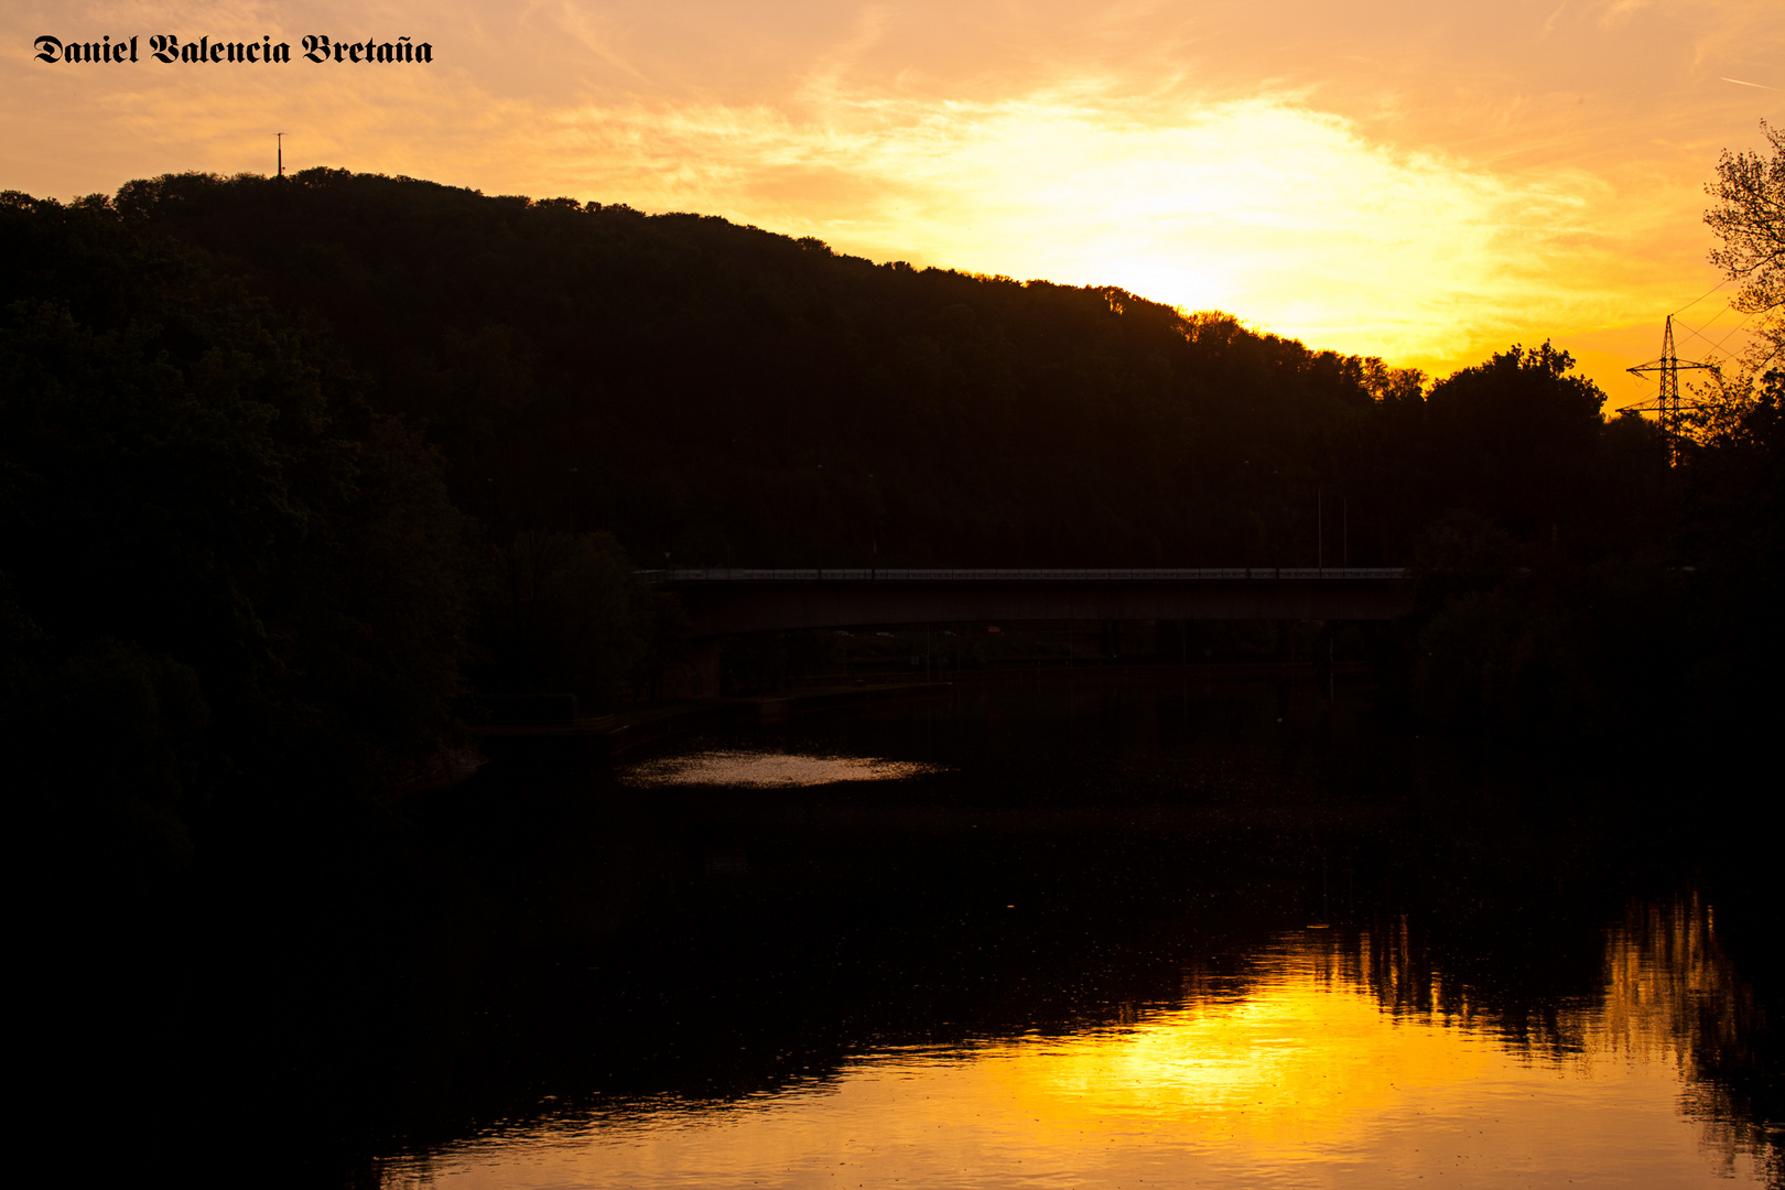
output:
[[[696,642],[746,632],[1037,619],[1394,619],[1399,567],[664,569]]]

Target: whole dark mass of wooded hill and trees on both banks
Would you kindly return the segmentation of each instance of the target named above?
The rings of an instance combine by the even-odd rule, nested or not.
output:
[[[11,735],[150,819],[416,778],[468,674],[655,689],[666,560],[1412,564],[1371,648],[1430,719],[1776,703],[1776,371],[1673,466],[1549,344],[1433,384],[716,218],[311,169],[12,193],[0,241]]]

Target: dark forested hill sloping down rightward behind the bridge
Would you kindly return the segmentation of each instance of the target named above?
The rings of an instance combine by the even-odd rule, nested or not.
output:
[[[1548,350],[1428,400],[1225,314],[718,218],[336,169],[116,209],[320,325],[494,537],[612,530],[639,562],[1312,564],[1323,491],[1328,560],[1396,564],[1453,507],[1623,537],[1658,460]]]

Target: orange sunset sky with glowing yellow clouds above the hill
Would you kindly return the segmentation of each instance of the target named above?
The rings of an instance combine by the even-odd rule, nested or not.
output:
[[[46,64],[39,34],[141,61]],[[154,34],[295,61],[164,64]],[[309,62],[307,34],[434,62]],[[287,171],[719,214],[1433,375],[1551,339],[1614,407],[1671,312],[1680,355],[1739,351],[1703,186],[1785,120],[1778,0],[9,0],[0,43],[0,189],[271,173],[282,130]]]

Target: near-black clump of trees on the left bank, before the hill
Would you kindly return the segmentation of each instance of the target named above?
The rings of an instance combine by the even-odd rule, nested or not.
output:
[[[348,366],[104,200],[5,194],[0,375],[27,787],[177,839],[225,783],[377,787],[441,746],[471,523]]]

